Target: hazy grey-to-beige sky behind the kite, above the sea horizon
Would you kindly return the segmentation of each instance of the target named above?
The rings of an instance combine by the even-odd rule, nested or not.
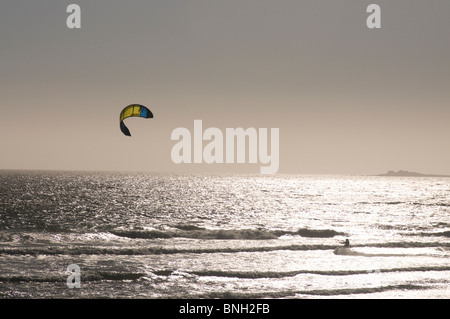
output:
[[[0,169],[259,172],[173,164],[172,130],[201,119],[279,128],[279,173],[450,174],[449,16],[444,0],[2,0]],[[131,103],[155,118],[129,138]]]

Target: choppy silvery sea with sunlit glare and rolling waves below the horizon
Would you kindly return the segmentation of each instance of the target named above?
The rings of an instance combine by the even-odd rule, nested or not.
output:
[[[0,298],[449,298],[449,198],[449,178],[0,171]]]

